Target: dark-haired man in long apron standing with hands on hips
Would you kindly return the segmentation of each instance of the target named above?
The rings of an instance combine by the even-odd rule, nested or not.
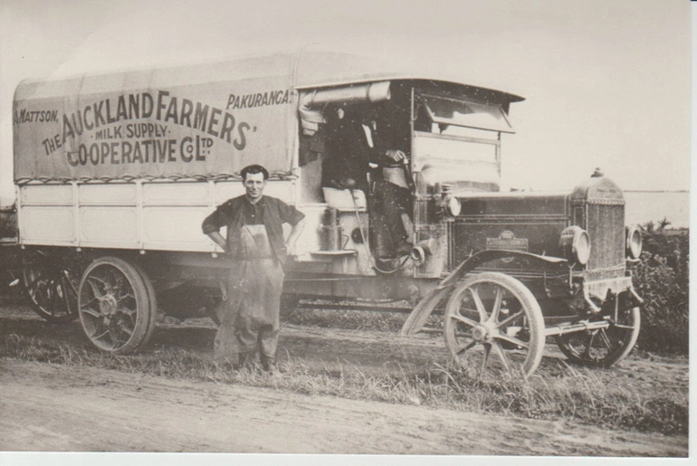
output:
[[[220,328],[214,357],[234,367],[259,356],[264,370],[275,365],[283,287],[282,265],[304,226],[304,214],[275,197],[264,196],[269,172],[260,165],[242,169],[245,194],[221,204],[202,229],[232,256],[227,299],[217,309]],[[292,225],[283,241],[282,223]],[[219,233],[227,226],[227,238]]]

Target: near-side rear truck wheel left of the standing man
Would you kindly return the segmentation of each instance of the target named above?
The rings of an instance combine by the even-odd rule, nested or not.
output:
[[[157,302],[138,267],[101,257],[82,274],[78,296],[82,329],[96,347],[127,354],[147,343],[155,327]]]

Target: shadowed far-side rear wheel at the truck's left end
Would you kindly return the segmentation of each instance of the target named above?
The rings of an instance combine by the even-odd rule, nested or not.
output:
[[[39,250],[22,253],[22,281],[29,304],[34,312],[54,324],[78,317],[80,276],[62,262]]]

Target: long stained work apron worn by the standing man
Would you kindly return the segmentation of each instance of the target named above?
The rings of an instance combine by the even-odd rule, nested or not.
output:
[[[227,299],[216,310],[220,327],[214,357],[236,364],[240,354],[259,349],[262,360],[276,357],[283,287],[281,263],[263,224],[242,225],[240,251],[233,262]]]

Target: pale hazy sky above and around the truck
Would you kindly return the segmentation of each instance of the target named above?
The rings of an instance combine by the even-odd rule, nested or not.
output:
[[[312,47],[397,59],[526,100],[502,185],[690,186],[686,0],[0,0],[0,204],[19,81]]]

